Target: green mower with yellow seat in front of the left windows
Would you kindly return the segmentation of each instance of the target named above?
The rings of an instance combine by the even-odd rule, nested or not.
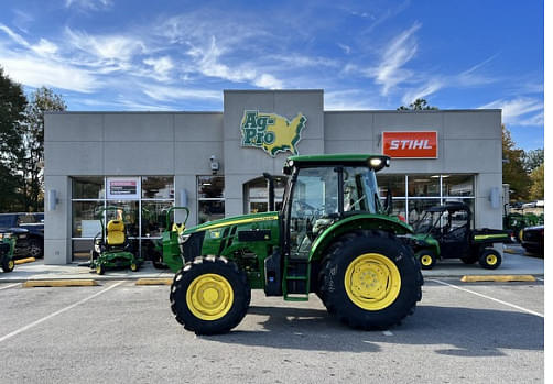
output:
[[[102,207],[98,210],[98,219],[101,223],[101,232],[94,238],[94,249],[90,251],[90,268],[98,275],[102,275],[109,268],[128,267],[137,272],[142,260],[134,254],[134,246],[129,241],[122,218],[109,220],[105,223],[105,212],[122,211],[118,207]],[[122,215],[121,215],[122,216]]]

